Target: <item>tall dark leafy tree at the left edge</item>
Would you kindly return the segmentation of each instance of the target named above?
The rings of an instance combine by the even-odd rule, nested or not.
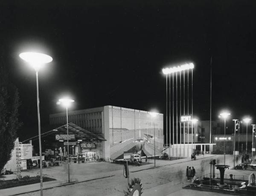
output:
[[[3,53],[2,53],[3,54]],[[11,159],[16,130],[21,123],[18,120],[20,99],[17,87],[9,82],[8,72],[0,57],[0,172]]]

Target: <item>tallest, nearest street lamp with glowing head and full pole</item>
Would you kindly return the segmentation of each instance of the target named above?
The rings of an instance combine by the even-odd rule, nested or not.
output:
[[[37,109],[38,109],[38,138],[39,138],[39,153],[40,153],[40,192],[43,196],[43,170],[42,170],[42,147],[41,147],[41,125],[39,112],[39,90],[38,90],[38,72],[45,64],[52,61],[52,57],[37,52],[23,52],[20,53],[20,58],[28,62],[30,66],[35,69],[36,75],[36,89],[37,89]]]

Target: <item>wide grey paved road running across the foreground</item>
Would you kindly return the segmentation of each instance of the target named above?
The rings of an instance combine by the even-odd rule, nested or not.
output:
[[[223,156],[216,156],[217,163],[221,162]],[[193,195],[196,190],[183,190],[180,182],[186,181],[186,166],[194,166],[196,176],[209,173],[209,160],[205,158],[196,161],[183,162],[179,164],[157,167],[154,169],[137,171],[140,167],[131,167],[130,178],[139,177],[143,182],[143,195],[145,196],[175,196],[175,195]],[[232,156],[226,156],[226,163],[232,163]],[[167,162],[162,161],[164,165]],[[102,169],[102,168],[101,168]],[[63,187],[55,187],[44,190],[45,196],[123,196],[123,190],[126,190],[127,179],[123,177],[123,170],[113,171],[115,176],[98,179],[89,182],[81,182],[77,184],[67,185]],[[216,171],[218,173],[218,171]],[[251,171],[227,170],[226,173],[248,175]],[[40,192],[26,193],[23,196],[37,196]],[[211,193],[200,192],[197,195],[211,195]],[[195,194],[194,194],[195,195]],[[217,194],[214,194],[217,196]],[[221,195],[221,194],[220,194]]]

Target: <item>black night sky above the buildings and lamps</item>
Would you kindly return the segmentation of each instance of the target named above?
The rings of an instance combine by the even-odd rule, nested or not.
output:
[[[61,95],[76,101],[72,110],[165,113],[161,69],[185,62],[195,64],[194,114],[209,120],[211,56],[212,119],[228,109],[256,122],[255,1],[0,2],[1,61],[20,93],[21,140],[38,133],[35,71],[18,56],[28,50],[53,58],[39,72],[42,132],[50,113],[64,112]]]

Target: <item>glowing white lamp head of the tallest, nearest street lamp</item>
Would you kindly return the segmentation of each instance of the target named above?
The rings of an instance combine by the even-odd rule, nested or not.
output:
[[[22,52],[20,58],[28,62],[36,72],[41,69],[42,65],[52,61],[52,57],[38,52]]]

